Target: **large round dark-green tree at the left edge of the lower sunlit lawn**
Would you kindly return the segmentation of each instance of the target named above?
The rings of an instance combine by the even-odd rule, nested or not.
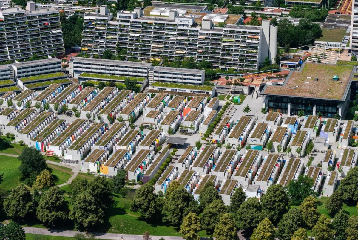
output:
[[[103,224],[105,215],[101,204],[98,203],[91,190],[80,192],[69,212],[69,218],[86,229]]]

